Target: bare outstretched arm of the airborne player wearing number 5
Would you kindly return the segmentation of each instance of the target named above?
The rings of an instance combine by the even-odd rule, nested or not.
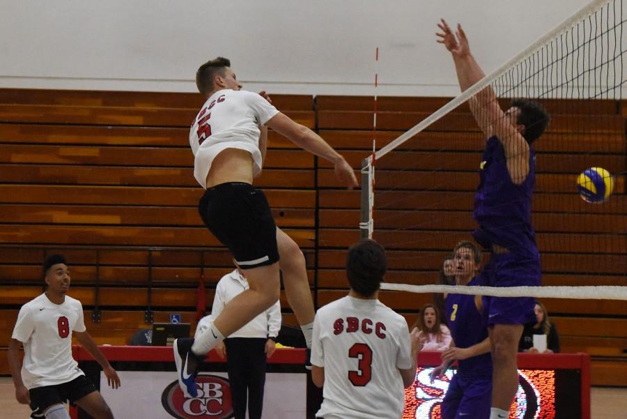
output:
[[[357,188],[358,183],[353,167],[350,167],[346,160],[316,132],[300,125],[300,123],[295,123],[281,112],[274,115],[266,125],[309,153],[332,162],[335,176],[339,181],[344,183],[348,189]]]

